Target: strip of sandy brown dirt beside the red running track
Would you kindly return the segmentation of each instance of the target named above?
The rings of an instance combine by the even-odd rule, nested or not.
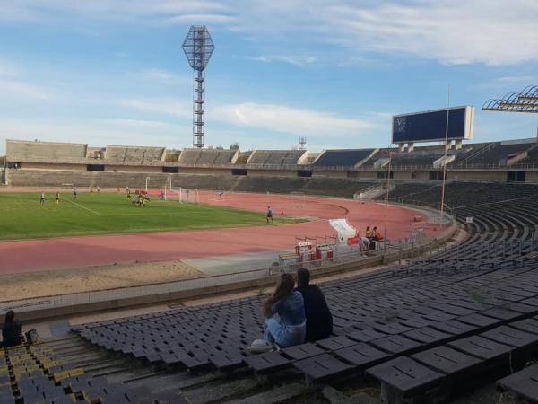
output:
[[[180,260],[61,269],[0,276],[0,302],[172,282],[204,273]]]

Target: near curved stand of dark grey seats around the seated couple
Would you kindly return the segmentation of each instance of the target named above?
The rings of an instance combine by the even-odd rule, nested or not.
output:
[[[397,186],[394,197],[438,206],[438,188],[421,186]],[[538,355],[536,195],[535,185],[449,183],[447,204],[466,226],[464,240],[430,258],[321,284],[334,337],[315,344],[247,355],[264,321],[265,296],[258,295],[87,323],[46,346],[61,352],[65,344],[64,352],[93,356],[94,363],[107,357],[127,396],[145,391],[194,403],[273,396],[268,402],[276,402],[308,395],[312,384],[360,389],[371,383],[362,377],[368,374],[389,400],[450,400],[517,374]],[[271,377],[256,382],[252,373]],[[91,386],[100,377],[91,366],[84,374],[90,382],[82,383]],[[510,380],[499,385],[522,391]]]

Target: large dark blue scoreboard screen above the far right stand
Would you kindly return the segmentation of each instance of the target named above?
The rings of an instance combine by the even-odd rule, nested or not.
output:
[[[448,110],[448,140],[473,138],[474,107]],[[447,109],[427,110],[393,117],[392,142],[444,142],[447,131]]]

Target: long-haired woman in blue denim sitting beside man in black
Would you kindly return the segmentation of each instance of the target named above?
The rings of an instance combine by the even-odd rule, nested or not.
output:
[[[273,295],[264,302],[264,338],[279,347],[302,344],[306,335],[305,304],[302,294],[293,291],[295,277],[282,274]],[[278,314],[279,319],[273,319]]]

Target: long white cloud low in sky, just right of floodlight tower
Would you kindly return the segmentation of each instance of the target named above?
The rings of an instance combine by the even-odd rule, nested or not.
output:
[[[360,135],[361,130],[374,127],[373,123],[366,120],[255,102],[221,105],[211,110],[210,114],[212,119],[239,127],[257,127],[308,136],[356,136]]]

